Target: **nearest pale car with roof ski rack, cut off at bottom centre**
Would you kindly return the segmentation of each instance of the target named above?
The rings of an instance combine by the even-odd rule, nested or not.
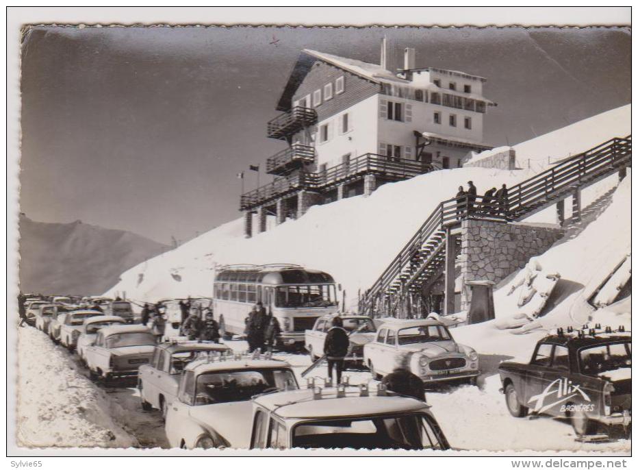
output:
[[[431,406],[366,386],[307,388],[253,398],[251,449],[445,450]],[[200,441],[215,447],[214,440]]]

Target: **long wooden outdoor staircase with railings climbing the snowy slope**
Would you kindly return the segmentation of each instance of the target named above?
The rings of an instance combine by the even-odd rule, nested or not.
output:
[[[506,201],[477,196],[471,203],[466,199],[439,203],[363,295],[359,311],[374,314],[382,304],[397,304],[397,297],[429,289],[444,270],[446,234],[460,227],[465,217],[520,221],[630,164],[631,136],[617,137],[508,188]]]

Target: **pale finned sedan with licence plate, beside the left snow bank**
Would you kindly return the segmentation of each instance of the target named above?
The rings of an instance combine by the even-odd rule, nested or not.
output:
[[[136,377],[138,367],[153,356],[155,335],[144,325],[112,325],[97,332],[84,358],[91,378],[108,382],[114,378]]]

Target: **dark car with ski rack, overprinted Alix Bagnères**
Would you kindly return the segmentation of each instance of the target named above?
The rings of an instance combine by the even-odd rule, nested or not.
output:
[[[498,368],[511,415],[570,419],[578,436],[621,426],[631,430],[631,334],[596,328],[546,336],[529,364]]]

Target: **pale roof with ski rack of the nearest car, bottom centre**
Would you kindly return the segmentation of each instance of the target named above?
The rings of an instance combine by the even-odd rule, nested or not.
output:
[[[361,396],[359,388],[349,386],[343,397],[337,397],[337,388],[323,388],[321,398],[315,398],[311,388],[266,393],[253,398],[256,404],[282,418],[348,418],[361,415],[383,415],[396,412],[421,411],[430,408],[424,401],[388,393],[377,395],[370,391]]]

